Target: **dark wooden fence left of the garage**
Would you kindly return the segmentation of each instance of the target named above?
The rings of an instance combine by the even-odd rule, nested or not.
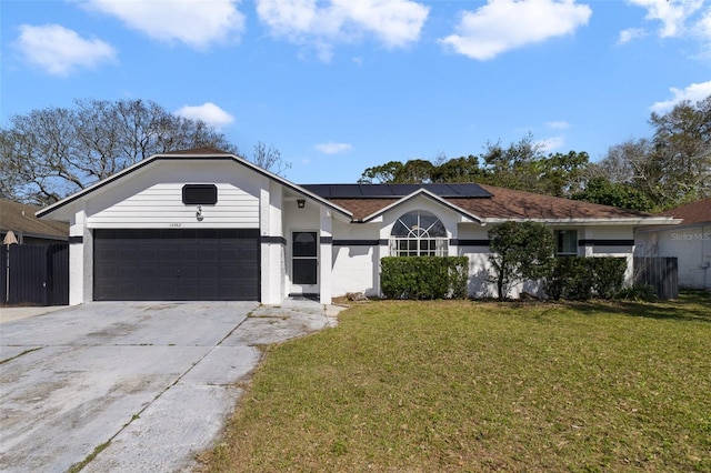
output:
[[[0,304],[69,304],[67,243],[2,245],[0,269]]]

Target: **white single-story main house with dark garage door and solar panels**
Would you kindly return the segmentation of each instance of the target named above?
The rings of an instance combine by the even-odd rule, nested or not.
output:
[[[467,255],[484,295],[487,231],[538,221],[560,255],[627,258],[634,230],[671,224],[587,202],[474,183],[298,185],[234,154],[150,157],[38,213],[70,224],[70,304],[104,300],[322,303],[380,292],[387,255]]]

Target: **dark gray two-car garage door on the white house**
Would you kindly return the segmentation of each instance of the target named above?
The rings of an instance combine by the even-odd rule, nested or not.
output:
[[[259,230],[94,230],[96,301],[258,301]]]

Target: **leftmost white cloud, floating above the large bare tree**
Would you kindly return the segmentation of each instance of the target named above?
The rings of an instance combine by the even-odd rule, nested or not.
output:
[[[116,59],[116,49],[99,39],[81,38],[60,24],[20,26],[14,46],[28,62],[52,76],[69,76],[79,68],[93,68]]]

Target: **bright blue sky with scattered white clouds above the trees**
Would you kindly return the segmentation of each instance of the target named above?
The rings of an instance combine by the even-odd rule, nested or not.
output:
[[[711,94],[711,0],[2,0],[0,123],[143,99],[297,183],[391,160],[550,152],[651,134]]]

